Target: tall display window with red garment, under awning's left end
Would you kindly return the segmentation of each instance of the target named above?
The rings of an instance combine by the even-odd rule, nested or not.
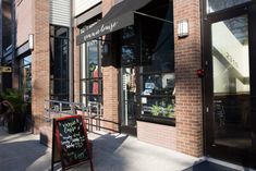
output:
[[[81,100],[87,107],[102,99],[100,44],[92,40],[81,46]]]

